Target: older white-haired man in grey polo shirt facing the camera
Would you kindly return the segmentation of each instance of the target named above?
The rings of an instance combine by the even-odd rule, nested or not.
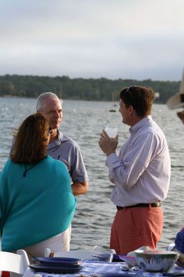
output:
[[[48,119],[53,133],[48,144],[48,155],[62,161],[71,176],[73,195],[82,195],[88,191],[89,178],[82,159],[79,145],[62,132],[59,126],[62,123],[62,103],[55,93],[45,92],[37,98],[37,112]]]

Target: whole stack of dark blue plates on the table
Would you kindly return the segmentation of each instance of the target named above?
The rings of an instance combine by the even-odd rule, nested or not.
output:
[[[34,271],[73,274],[82,269],[82,260],[76,258],[34,258],[37,263],[29,267]]]

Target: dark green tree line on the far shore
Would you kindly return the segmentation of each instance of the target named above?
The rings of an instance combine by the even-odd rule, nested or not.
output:
[[[84,79],[49,77],[37,75],[1,75],[0,76],[0,96],[19,96],[37,98],[39,94],[52,91],[62,99],[71,100],[119,100],[119,93],[123,87],[140,85],[151,87],[159,93],[159,98],[155,102],[165,103],[168,98],[178,92],[181,82],[176,81],[154,81],[118,79],[109,80],[107,78]]]

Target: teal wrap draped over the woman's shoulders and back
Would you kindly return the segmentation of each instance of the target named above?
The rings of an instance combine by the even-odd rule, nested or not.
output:
[[[15,251],[62,233],[75,213],[76,199],[64,163],[47,157],[25,177],[24,172],[23,164],[8,159],[0,175],[2,251]]]

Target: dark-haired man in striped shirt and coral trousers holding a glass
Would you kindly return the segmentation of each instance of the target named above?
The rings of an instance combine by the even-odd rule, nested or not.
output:
[[[103,130],[99,145],[107,155],[111,201],[117,206],[111,226],[111,249],[126,255],[142,246],[156,249],[163,231],[161,202],[167,197],[170,157],[163,131],[151,118],[154,91],[131,86],[120,91],[122,123],[129,139],[116,154],[118,136]]]

